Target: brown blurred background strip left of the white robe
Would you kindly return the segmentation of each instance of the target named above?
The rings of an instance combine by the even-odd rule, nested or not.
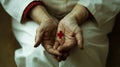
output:
[[[17,67],[14,51],[19,48],[11,28],[11,17],[0,4],[0,67]]]

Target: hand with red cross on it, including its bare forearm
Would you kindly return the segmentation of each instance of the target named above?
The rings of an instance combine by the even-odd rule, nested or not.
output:
[[[56,59],[59,61],[65,60],[69,55],[69,51],[76,45],[83,49],[82,30],[79,25],[87,18],[88,11],[86,8],[81,5],[76,5],[74,9],[60,21],[54,49],[59,50],[62,56],[56,56]]]

